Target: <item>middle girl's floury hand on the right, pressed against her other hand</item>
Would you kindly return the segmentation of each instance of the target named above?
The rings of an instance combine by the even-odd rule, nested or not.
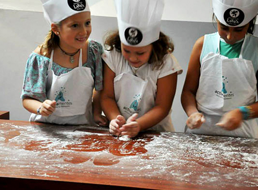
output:
[[[137,117],[138,113],[134,113],[127,119],[126,124],[123,124],[120,128],[122,135],[127,135],[129,138],[132,138],[140,132],[141,127],[136,121]]]

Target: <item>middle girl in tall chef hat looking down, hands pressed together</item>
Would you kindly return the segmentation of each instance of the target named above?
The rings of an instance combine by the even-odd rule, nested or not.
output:
[[[173,44],[160,32],[163,0],[115,0],[119,32],[110,34],[102,58],[101,105],[114,135],[173,131],[171,105],[177,73]],[[121,39],[121,40],[120,40]]]

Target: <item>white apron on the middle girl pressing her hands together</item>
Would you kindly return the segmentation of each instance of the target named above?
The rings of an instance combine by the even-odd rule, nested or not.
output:
[[[145,80],[130,73],[121,73],[114,78],[115,99],[121,114],[127,119],[133,113],[138,117],[148,112],[155,105],[156,83],[147,76]],[[169,114],[152,130],[174,131]]]

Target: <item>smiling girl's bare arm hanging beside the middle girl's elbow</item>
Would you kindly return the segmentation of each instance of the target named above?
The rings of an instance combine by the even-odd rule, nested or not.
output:
[[[100,126],[107,126],[108,120],[102,115],[102,108],[100,104],[100,91],[93,90],[93,101],[92,101],[92,109],[94,120]]]

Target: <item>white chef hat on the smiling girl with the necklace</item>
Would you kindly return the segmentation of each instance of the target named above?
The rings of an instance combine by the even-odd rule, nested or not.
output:
[[[49,24],[60,22],[79,12],[90,11],[87,0],[41,0],[41,2],[44,17]]]

